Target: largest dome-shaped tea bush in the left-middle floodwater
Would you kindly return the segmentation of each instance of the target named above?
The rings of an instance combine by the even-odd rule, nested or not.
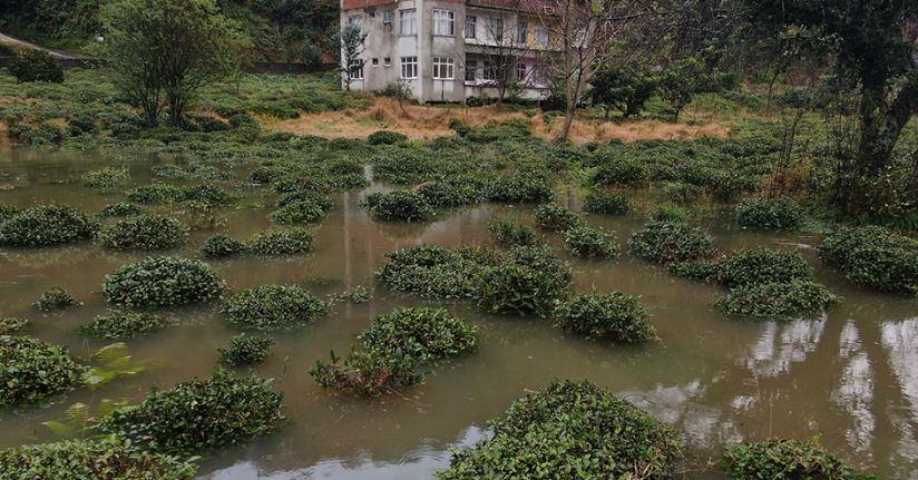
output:
[[[108,302],[129,307],[158,307],[209,302],[223,293],[223,283],[204,262],[179,257],[148,257],[106,275]]]

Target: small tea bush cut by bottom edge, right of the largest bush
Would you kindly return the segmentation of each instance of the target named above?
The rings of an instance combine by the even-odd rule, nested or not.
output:
[[[769,480],[868,480],[872,476],[852,470],[826,451],[817,439],[765,439],[758,443],[729,445],[721,461],[735,479]]]

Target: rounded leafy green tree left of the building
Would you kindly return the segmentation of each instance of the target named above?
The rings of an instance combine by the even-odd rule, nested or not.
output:
[[[215,0],[119,0],[102,21],[111,80],[150,127],[165,106],[180,125],[201,87],[228,72],[244,43]]]

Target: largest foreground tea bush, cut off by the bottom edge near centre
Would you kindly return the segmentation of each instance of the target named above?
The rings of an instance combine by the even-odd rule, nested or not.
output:
[[[489,422],[494,432],[453,451],[440,480],[567,477],[663,480],[683,461],[672,428],[588,381],[551,382]]]

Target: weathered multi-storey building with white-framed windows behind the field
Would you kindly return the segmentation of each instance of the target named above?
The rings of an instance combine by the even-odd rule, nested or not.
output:
[[[341,0],[341,27],[365,35],[350,88],[403,82],[421,102],[544,99],[551,52],[541,0]]]

